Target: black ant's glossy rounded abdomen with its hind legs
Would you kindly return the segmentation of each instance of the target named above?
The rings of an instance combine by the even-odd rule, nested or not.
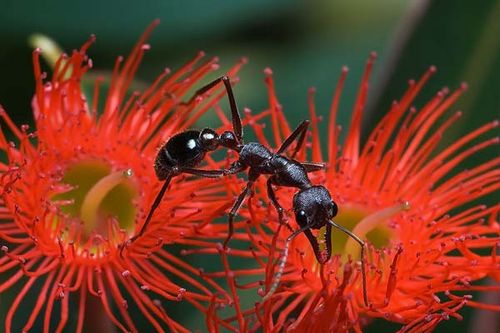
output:
[[[236,109],[236,102],[228,76],[219,77],[208,83],[206,86],[200,88],[194,93],[193,97],[191,97],[191,99],[184,104],[190,104],[198,96],[203,95],[220,82],[224,83],[231,110]],[[163,185],[151,205],[149,213],[139,233],[126,242],[125,246],[122,247],[122,251],[126,245],[131,244],[137,238],[144,235],[144,232],[151,222],[153,213],[158,208],[173,177],[182,173],[187,173],[205,178],[218,178],[225,174],[225,170],[202,170],[196,169],[195,167],[203,161],[207,152],[214,151],[219,146],[228,146],[229,144],[227,142],[232,140],[234,133],[241,136],[241,121],[239,116],[237,118],[233,118],[233,131],[234,132],[226,131],[219,136],[217,132],[211,128],[204,128],[201,131],[191,129],[174,135],[165,144],[163,144],[163,146],[159,149],[154,162],[156,177],[158,180],[164,181]]]

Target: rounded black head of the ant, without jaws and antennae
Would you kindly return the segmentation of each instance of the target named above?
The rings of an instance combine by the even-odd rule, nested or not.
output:
[[[299,191],[293,198],[297,224],[319,229],[338,213],[337,204],[324,186],[312,186]]]

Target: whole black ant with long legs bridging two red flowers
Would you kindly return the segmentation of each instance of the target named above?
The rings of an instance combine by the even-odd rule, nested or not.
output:
[[[205,128],[202,131],[187,130],[170,138],[159,150],[155,159],[155,172],[159,180],[163,180],[163,186],[155,198],[153,205],[146,217],[144,224],[139,233],[127,242],[130,244],[137,238],[141,237],[153,216],[154,211],[163,198],[165,191],[171,179],[181,173],[188,173],[201,177],[218,178],[223,175],[235,174],[241,171],[248,171],[248,182],[245,189],[240,193],[236,199],[228,216],[228,235],[224,240],[224,248],[233,235],[233,220],[242,206],[245,197],[250,193],[253,184],[260,175],[271,175],[267,180],[267,193],[271,203],[276,208],[279,216],[279,223],[283,222],[284,209],[279,204],[273,190],[273,185],[287,186],[299,189],[293,198],[293,210],[295,219],[300,228],[293,231],[292,234],[286,239],[283,256],[278,265],[278,271],[274,276],[274,282],[263,300],[268,299],[274,293],[279,285],[279,280],[283,273],[286,259],[288,256],[288,247],[290,242],[299,234],[304,233],[308,238],[311,246],[313,247],[316,259],[321,264],[327,262],[331,257],[331,233],[332,227],[335,227],[342,232],[352,237],[356,242],[361,245],[361,273],[363,277],[363,299],[368,305],[368,297],[366,294],[366,274],[364,269],[364,249],[365,243],[349,230],[336,224],[332,221],[337,215],[338,208],[332,200],[328,190],[321,185],[312,185],[308,172],[321,170],[324,165],[321,163],[308,163],[298,162],[294,160],[295,155],[302,147],[309,121],[304,120],[282,143],[281,147],[272,153],[267,147],[258,142],[243,143],[243,130],[241,118],[236,105],[234,94],[232,91],[229,77],[222,76],[210,82],[195,92],[190,101],[196,97],[204,94],[208,90],[220,82],[224,83],[227,92],[229,106],[231,108],[231,117],[233,131],[225,131],[218,135],[216,131],[210,128]],[[188,102],[189,103],[189,102]],[[290,158],[283,155],[283,153],[295,141],[295,149]],[[225,170],[201,170],[195,169],[199,165],[208,151],[213,151],[220,146],[234,150],[239,154],[236,162],[232,163],[229,169]],[[288,224],[286,224],[288,226]],[[325,239],[326,239],[326,256],[323,256],[320,249],[318,239],[313,235],[311,229],[320,229],[326,226]],[[289,226],[288,226],[289,227]],[[290,228],[290,227],[289,227]],[[291,229],[291,228],[290,228]],[[122,250],[125,246],[122,247]]]

